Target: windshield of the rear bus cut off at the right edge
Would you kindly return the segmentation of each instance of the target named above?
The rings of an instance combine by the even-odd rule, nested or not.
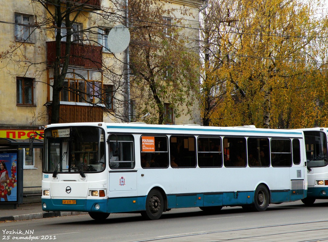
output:
[[[324,132],[304,131],[308,167],[326,166],[327,139]]]

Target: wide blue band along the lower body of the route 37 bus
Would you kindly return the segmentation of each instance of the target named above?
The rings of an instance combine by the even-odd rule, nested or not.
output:
[[[322,189],[321,189],[322,190]],[[275,190],[270,194],[270,203],[292,202],[306,197],[306,190]],[[328,194],[328,191],[327,191]],[[323,198],[323,197],[322,197]],[[195,208],[211,206],[242,206],[252,204],[254,191],[222,192],[222,193],[198,193],[198,194],[170,194],[167,195],[167,208]],[[44,211],[81,211],[81,212],[133,212],[146,208],[146,196],[123,197],[108,199],[75,199],[75,205],[63,205],[62,199],[41,199],[46,203]],[[100,209],[94,205],[99,204]],[[164,204],[164,201],[163,201]]]

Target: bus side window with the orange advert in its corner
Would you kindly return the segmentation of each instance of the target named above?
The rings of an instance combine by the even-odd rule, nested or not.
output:
[[[168,139],[166,136],[141,136],[140,161],[142,168],[169,166]]]

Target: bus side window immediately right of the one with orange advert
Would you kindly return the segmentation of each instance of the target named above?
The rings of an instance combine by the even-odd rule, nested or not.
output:
[[[170,157],[174,159],[176,167],[195,167],[195,136],[171,136]]]

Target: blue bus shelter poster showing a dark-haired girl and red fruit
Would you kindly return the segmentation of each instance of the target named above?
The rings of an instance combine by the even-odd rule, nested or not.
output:
[[[0,202],[17,201],[17,153],[0,154]]]

